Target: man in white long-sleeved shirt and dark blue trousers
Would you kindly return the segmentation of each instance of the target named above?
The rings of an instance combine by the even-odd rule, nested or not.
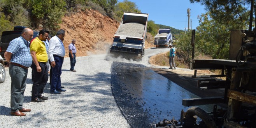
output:
[[[60,29],[56,36],[53,36],[49,42],[49,49],[48,49],[48,57],[51,61],[51,66],[53,67],[52,70],[52,77],[51,77],[51,94],[60,94],[60,92],[65,92],[65,89],[61,88],[61,67],[64,61],[65,56],[65,48],[63,45],[63,40],[65,36],[65,31]]]

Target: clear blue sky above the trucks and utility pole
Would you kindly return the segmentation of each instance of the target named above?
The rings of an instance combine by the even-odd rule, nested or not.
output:
[[[142,13],[149,14],[148,20],[155,24],[170,26],[175,29],[188,29],[188,14],[190,10],[190,19],[192,20],[192,29],[199,26],[197,16],[205,13],[205,6],[200,3],[190,3],[189,0],[129,0],[134,2]],[[118,0],[123,2],[123,0]],[[189,29],[191,26],[189,26]]]

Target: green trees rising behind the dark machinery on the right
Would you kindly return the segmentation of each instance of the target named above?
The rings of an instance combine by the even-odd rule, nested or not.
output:
[[[196,28],[198,50],[213,59],[228,59],[230,31],[248,29],[248,0],[190,0],[205,5],[208,12],[199,17]]]

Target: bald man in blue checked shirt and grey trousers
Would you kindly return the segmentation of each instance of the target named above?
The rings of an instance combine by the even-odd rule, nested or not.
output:
[[[9,74],[11,76],[11,115],[26,116],[23,112],[31,109],[23,107],[24,92],[26,89],[26,78],[28,67],[32,64],[29,40],[33,38],[33,30],[25,28],[21,36],[12,40],[4,53],[6,61],[9,62]]]

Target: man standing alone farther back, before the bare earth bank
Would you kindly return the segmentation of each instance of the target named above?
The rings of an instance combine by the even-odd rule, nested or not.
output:
[[[76,72],[75,71],[75,54],[76,54],[76,48],[75,48],[75,40],[73,39],[70,45],[68,45],[68,50],[69,50],[69,58],[70,58],[70,71]]]

